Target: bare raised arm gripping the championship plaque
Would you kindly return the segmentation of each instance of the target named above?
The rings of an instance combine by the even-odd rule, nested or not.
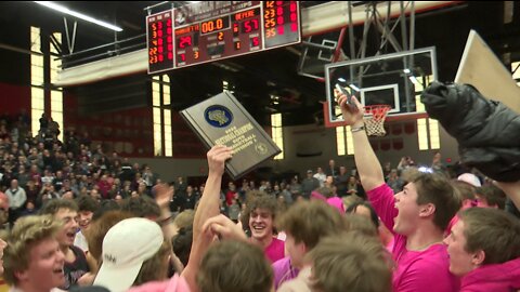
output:
[[[182,276],[190,284],[192,292],[198,291],[195,278],[200,265],[200,261],[211,243],[211,239],[204,235],[204,223],[213,216],[220,214],[220,188],[222,183],[222,174],[224,174],[225,161],[233,156],[230,147],[217,145],[207,154],[208,158],[208,178],[204,188],[203,197],[195,212],[193,222],[193,247],[190,253],[190,261]]]

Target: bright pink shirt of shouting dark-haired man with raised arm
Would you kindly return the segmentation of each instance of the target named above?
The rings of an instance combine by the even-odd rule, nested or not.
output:
[[[382,223],[393,233],[398,210],[392,189],[382,184],[366,194]],[[425,251],[408,251],[406,237],[395,234],[392,255],[396,262],[392,281],[394,292],[458,291],[459,281],[448,270],[446,245],[439,243]]]

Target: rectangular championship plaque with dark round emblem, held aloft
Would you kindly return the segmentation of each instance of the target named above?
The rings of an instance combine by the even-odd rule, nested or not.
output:
[[[225,145],[234,150],[225,169],[233,180],[282,150],[227,91],[181,110],[181,116],[209,148]]]

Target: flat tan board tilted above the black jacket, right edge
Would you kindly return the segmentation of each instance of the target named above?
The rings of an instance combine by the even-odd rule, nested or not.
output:
[[[471,84],[483,96],[499,101],[520,114],[520,88],[517,81],[474,30],[469,32],[455,83]]]

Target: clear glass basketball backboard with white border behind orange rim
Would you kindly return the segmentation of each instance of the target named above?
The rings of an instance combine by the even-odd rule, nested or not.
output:
[[[334,98],[336,83],[363,105],[390,105],[387,120],[392,120],[426,117],[419,96],[437,78],[433,47],[325,65],[325,124],[335,127],[342,121]]]

